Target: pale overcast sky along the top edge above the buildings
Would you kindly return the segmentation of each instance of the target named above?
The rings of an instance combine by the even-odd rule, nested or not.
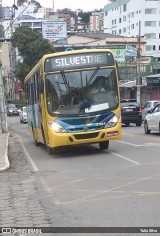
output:
[[[82,9],[83,11],[92,11],[103,8],[108,0],[36,0],[44,7],[53,7],[56,9],[70,8],[71,10]],[[17,0],[2,0],[7,6],[12,6]]]

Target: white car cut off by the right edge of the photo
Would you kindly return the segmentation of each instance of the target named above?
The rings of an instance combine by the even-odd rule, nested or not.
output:
[[[151,130],[160,133],[160,103],[144,119],[144,131],[150,134]]]

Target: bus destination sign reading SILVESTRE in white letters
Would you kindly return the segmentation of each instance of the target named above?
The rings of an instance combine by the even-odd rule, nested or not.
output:
[[[47,58],[45,61],[45,71],[51,72],[113,65],[114,59],[110,52],[79,53]]]

